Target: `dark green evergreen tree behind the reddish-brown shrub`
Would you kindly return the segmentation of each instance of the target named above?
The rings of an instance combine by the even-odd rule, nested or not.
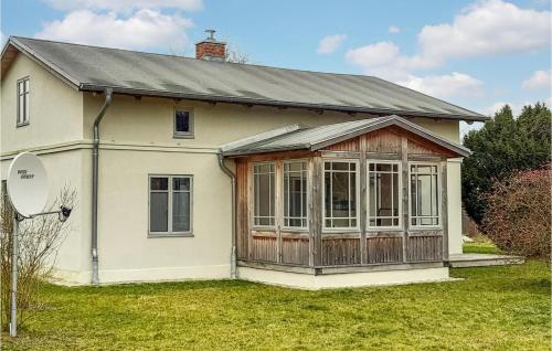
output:
[[[495,180],[550,162],[550,128],[551,113],[544,104],[523,107],[518,118],[505,105],[480,130],[464,137],[464,146],[473,155],[464,160],[461,198],[477,223],[481,223],[487,209],[484,194],[491,190]]]

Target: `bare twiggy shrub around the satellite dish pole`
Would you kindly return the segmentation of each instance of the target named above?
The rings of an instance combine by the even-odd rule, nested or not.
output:
[[[11,247],[13,211],[6,191],[0,206],[0,313],[1,326],[8,330],[11,304]],[[63,204],[75,206],[76,192],[65,187],[45,211],[55,211]],[[60,222],[57,215],[42,215],[21,222],[19,226],[18,259],[18,327],[22,327],[35,311],[42,309],[39,288],[52,277],[57,248],[70,231],[70,222]],[[3,318],[2,318],[3,317]]]

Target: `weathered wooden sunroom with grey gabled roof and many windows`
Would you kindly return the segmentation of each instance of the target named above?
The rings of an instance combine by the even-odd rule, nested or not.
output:
[[[224,146],[236,166],[240,272],[444,268],[447,159],[468,153],[399,116],[289,126]]]

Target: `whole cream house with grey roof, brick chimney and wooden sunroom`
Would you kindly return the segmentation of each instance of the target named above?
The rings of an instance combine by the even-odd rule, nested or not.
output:
[[[26,150],[77,191],[67,284],[241,277],[318,288],[448,277],[458,125],[380,78],[10,38],[1,176]]]

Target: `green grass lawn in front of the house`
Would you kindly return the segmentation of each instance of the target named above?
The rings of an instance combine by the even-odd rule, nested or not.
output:
[[[306,291],[240,280],[59,287],[6,350],[549,350],[550,265]]]

